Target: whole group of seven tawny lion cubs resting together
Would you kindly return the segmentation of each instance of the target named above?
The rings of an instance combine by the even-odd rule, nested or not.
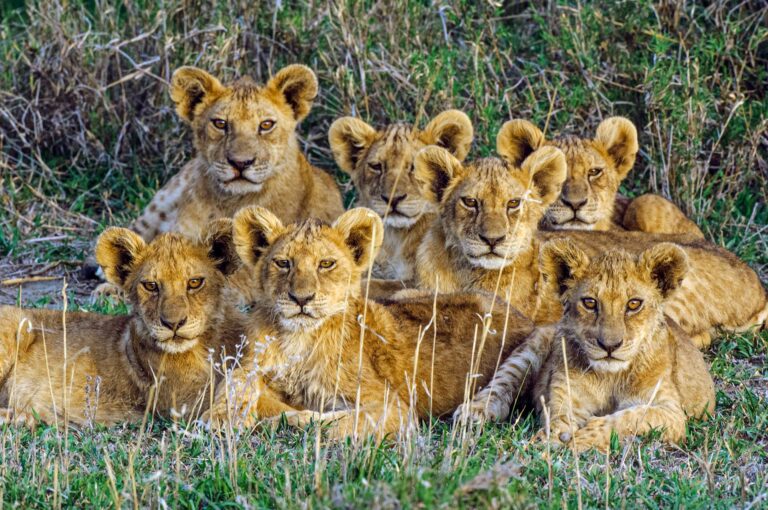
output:
[[[174,73],[197,156],[95,249],[133,312],[0,309],[6,419],[285,416],[382,437],[528,400],[540,437],[604,449],[611,431],[681,440],[713,410],[698,348],[763,327],[766,292],[670,202],[617,200],[631,122],[547,140],[511,120],[498,157],[466,162],[462,112],[341,118],[331,148],[365,206],[344,212],[296,138],[317,88],[301,65],[266,85]]]

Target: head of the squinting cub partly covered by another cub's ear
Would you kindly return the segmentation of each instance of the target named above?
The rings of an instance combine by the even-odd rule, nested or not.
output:
[[[360,119],[342,117],[328,133],[336,163],[358,190],[358,203],[376,211],[387,227],[404,229],[431,210],[414,177],[416,153],[438,145],[463,160],[473,136],[469,117],[457,110],[439,114],[423,131],[402,124],[379,131]]]

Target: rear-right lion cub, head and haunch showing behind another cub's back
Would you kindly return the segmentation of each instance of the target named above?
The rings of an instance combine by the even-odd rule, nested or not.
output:
[[[634,166],[639,149],[637,129],[630,120],[607,118],[591,139],[569,136],[546,140],[530,122],[514,119],[502,126],[497,139],[499,155],[515,166],[548,145],[565,153],[568,175],[560,196],[542,220],[542,228],[626,229],[703,237],[694,222],[659,195],[648,194],[634,200],[618,195],[619,185]]]

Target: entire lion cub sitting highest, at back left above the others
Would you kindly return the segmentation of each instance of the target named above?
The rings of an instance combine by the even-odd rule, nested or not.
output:
[[[202,69],[177,69],[171,99],[192,127],[197,155],[133,229],[146,241],[168,231],[197,236],[208,221],[247,205],[268,207],[283,221],[336,218],[344,207],[333,177],[310,165],[296,140],[317,90],[303,65],[281,69],[266,85],[248,77],[223,84]]]

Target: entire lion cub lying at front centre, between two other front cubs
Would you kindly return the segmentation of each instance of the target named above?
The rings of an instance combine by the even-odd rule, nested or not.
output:
[[[219,392],[214,422],[250,426],[285,413],[295,426],[330,422],[331,437],[382,437],[452,412],[532,331],[481,294],[366,300],[361,274],[382,235],[381,218],[364,208],[333,225],[285,226],[260,207],[235,216],[261,300],[248,328],[252,357]]]

